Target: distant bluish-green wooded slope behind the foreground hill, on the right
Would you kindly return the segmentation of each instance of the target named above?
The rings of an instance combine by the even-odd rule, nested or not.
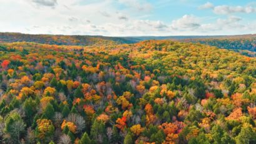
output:
[[[220,49],[234,50],[240,52],[242,55],[250,57],[256,57],[256,34],[245,34],[235,36],[162,36],[162,37],[128,37],[134,41],[145,40],[167,40],[180,42],[193,42],[200,44],[206,44],[209,46],[215,46]]]

